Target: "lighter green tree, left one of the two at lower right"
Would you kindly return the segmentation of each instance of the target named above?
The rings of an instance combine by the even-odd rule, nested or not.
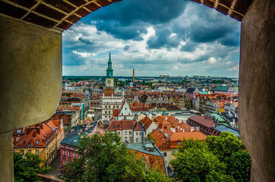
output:
[[[182,181],[234,181],[225,174],[226,166],[208,148],[188,147],[170,161],[177,180]],[[222,178],[222,179],[221,179]]]

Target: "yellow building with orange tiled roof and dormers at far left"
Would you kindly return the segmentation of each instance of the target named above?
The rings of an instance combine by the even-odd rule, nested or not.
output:
[[[13,131],[13,140],[18,140],[18,131],[19,129]],[[58,156],[60,143],[64,138],[62,119],[50,119],[38,125],[25,127],[22,131],[23,135],[14,144],[14,152],[19,152],[22,155],[34,153],[44,160],[42,166],[51,164]]]

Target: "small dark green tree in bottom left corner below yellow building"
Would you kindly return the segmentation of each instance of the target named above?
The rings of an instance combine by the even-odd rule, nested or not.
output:
[[[26,153],[13,153],[14,161],[14,181],[39,181],[37,174],[44,174],[50,167],[43,168],[40,166],[43,159],[39,155]]]

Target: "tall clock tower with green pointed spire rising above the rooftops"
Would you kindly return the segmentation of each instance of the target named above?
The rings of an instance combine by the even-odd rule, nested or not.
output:
[[[113,79],[113,69],[111,68],[111,53],[109,53],[109,61],[108,61],[108,68],[106,70],[106,78],[105,78],[105,88],[104,88],[104,95],[105,96],[112,96],[115,92],[115,81]]]

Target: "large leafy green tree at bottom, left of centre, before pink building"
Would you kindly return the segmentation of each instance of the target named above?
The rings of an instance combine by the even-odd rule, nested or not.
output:
[[[166,179],[159,172],[148,172],[142,159],[120,142],[118,133],[83,136],[78,147],[81,157],[65,166],[66,181],[146,181],[153,175]]]

